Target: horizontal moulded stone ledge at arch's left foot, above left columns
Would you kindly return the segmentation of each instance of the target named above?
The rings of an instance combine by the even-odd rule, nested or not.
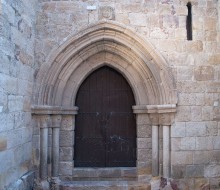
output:
[[[32,106],[31,112],[34,115],[76,115],[79,108],[76,106],[73,107],[62,107],[62,106]]]

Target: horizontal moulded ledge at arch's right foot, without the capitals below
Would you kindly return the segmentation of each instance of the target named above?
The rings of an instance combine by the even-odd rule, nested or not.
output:
[[[135,105],[132,106],[133,112],[138,113],[175,113],[176,104],[164,105]]]

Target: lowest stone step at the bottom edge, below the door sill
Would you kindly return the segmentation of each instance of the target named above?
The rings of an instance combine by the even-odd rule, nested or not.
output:
[[[148,183],[137,181],[71,181],[61,182],[60,190],[150,190]]]

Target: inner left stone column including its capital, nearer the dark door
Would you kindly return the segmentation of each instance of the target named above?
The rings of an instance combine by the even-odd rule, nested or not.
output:
[[[52,115],[52,177],[59,175],[59,148],[61,115]]]

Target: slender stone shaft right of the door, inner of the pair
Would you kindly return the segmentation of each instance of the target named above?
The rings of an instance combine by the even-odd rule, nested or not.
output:
[[[152,175],[159,175],[159,127],[152,126]]]

